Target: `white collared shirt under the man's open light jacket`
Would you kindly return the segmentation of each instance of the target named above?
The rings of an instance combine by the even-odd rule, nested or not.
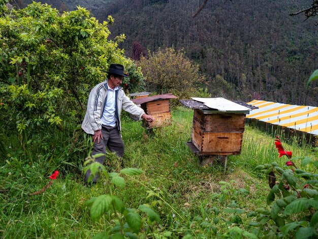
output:
[[[115,91],[118,89],[118,87],[116,86],[114,89],[111,89],[108,85],[108,82],[107,86],[107,98],[102,115],[102,124],[114,127],[116,125]]]

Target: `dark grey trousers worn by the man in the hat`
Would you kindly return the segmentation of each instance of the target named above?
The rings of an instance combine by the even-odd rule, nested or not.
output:
[[[123,156],[125,146],[121,139],[121,135],[119,133],[118,127],[103,125],[102,135],[103,135],[103,139],[100,139],[99,143],[97,142],[97,140],[95,141],[94,148],[93,148],[93,151],[91,152],[91,155],[93,156],[100,153],[106,154],[106,146],[107,146],[110,152],[116,152],[116,155],[121,158]],[[95,162],[104,164],[105,158],[106,158],[105,156],[98,157],[95,159]],[[85,174],[85,183],[87,183],[89,175],[90,175],[90,170],[87,170]],[[96,182],[98,177],[99,175],[96,174],[94,178],[92,179],[92,182]]]

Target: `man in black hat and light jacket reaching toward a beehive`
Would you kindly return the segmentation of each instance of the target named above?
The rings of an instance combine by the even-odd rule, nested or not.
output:
[[[82,129],[87,134],[93,135],[94,148],[91,155],[105,154],[106,146],[111,152],[116,152],[118,157],[123,156],[124,144],[121,139],[120,113],[121,109],[153,122],[154,117],[145,114],[144,110],[135,105],[119,86],[124,77],[124,67],[119,64],[111,64],[107,71],[107,79],[96,85],[89,93],[87,110],[82,123]],[[103,164],[105,156],[96,158]],[[87,184],[90,170],[86,171],[85,183]],[[98,175],[92,182],[96,183]]]

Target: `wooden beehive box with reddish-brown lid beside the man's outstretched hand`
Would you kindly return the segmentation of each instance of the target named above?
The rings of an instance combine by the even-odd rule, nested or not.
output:
[[[133,99],[135,104],[140,104],[140,107],[146,114],[152,115],[154,121],[149,123],[143,121],[143,127],[146,129],[160,128],[171,125],[170,101],[169,99],[177,98],[172,94],[164,94],[151,96],[140,99]]]

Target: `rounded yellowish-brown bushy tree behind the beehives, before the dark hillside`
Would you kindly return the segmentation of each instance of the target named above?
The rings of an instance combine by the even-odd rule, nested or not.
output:
[[[142,56],[138,65],[146,78],[147,88],[159,94],[173,93],[182,99],[189,98],[204,81],[199,67],[174,48],[149,52],[149,58]]]

